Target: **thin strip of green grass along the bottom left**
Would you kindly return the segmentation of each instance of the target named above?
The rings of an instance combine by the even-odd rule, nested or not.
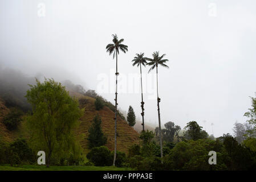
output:
[[[131,168],[121,168],[113,166],[46,166],[39,165],[22,165],[19,167],[11,167],[9,164],[0,165],[0,171],[131,171]]]

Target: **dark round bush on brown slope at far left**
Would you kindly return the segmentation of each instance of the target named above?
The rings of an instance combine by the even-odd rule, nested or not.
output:
[[[22,111],[19,109],[13,108],[10,110],[10,113],[8,113],[3,120],[8,130],[12,131],[17,129],[19,123],[22,121],[22,114]]]

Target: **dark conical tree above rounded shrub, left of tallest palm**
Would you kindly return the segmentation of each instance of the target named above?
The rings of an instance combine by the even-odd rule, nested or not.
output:
[[[101,118],[98,114],[95,116],[94,122],[88,132],[87,139],[90,148],[104,146],[107,143],[107,137],[105,137],[101,130]]]

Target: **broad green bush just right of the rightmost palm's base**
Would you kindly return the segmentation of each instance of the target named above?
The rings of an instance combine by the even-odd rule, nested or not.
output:
[[[224,170],[222,149],[222,144],[210,139],[182,141],[165,156],[164,164],[169,170]],[[217,152],[217,165],[208,163],[209,151]]]

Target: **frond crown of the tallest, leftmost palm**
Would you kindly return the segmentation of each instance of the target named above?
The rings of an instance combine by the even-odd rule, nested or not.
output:
[[[117,35],[113,35],[113,44],[108,44],[106,49],[107,52],[109,52],[109,55],[113,53],[113,59],[116,57],[116,55],[119,55],[119,49],[126,53],[128,51],[128,46],[125,46],[124,44],[121,44],[124,39],[118,40]]]

